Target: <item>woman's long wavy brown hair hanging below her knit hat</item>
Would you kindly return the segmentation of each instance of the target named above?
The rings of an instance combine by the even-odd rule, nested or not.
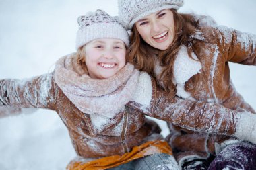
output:
[[[198,22],[195,21],[194,17],[189,14],[177,13],[175,9],[170,10],[174,17],[175,37],[168,49],[158,50],[147,44],[139,35],[134,24],[131,30],[131,45],[127,50],[127,60],[135,65],[135,68],[146,71],[155,78],[154,69],[156,60],[159,60],[160,66],[164,68],[160,74],[161,84],[164,85],[165,90],[170,92],[170,95],[174,95],[176,89],[174,83],[172,83],[173,65],[179,48],[182,44],[187,46],[191,57],[193,45],[200,40],[191,38],[191,35],[197,32],[198,26]]]

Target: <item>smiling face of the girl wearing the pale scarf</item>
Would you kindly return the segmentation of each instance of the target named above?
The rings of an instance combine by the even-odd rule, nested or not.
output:
[[[115,38],[99,38],[85,46],[86,66],[92,79],[106,79],[125,66],[126,48]]]

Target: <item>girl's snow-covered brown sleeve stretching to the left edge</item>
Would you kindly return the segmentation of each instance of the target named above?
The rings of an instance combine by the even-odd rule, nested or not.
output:
[[[0,107],[54,110],[54,86],[53,73],[32,79],[2,79],[0,80]]]

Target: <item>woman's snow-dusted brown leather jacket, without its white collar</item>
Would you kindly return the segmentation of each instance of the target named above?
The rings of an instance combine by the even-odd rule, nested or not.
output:
[[[193,46],[193,52],[201,62],[201,73],[185,83],[185,87],[193,89],[187,92],[196,101],[217,103],[232,110],[245,110],[255,114],[255,110],[244,101],[232,84],[228,62],[256,65],[256,36],[225,26],[205,26],[199,32],[204,40]],[[205,118],[207,121],[211,119],[214,117]],[[205,157],[209,153],[215,155],[218,150],[215,146],[220,146],[221,142],[228,139],[228,136],[195,133],[172,124],[169,127],[171,134],[168,140],[174,150],[181,151],[179,157]]]

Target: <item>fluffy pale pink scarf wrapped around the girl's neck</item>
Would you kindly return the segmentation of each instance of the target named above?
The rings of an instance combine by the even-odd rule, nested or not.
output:
[[[54,79],[79,110],[86,114],[97,113],[112,118],[131,100],[139,71],[127,63],[113,77],[92,79],[77,64],[75,55],[71,54],[57,61]]]

